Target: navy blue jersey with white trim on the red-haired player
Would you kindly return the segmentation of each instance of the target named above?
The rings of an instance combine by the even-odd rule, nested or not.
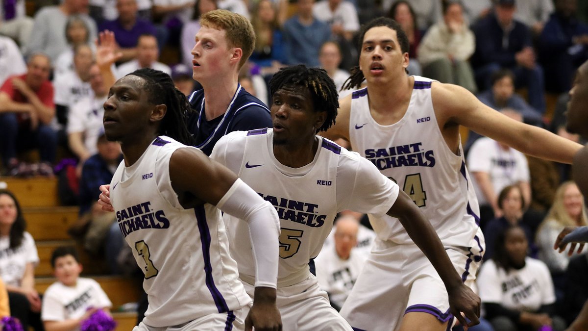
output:
[[[206,155],[211,155],[216,141],[225,134],[272,127],[268,107],[240,84],[225,114],[210,121],[204,113],[204,90],[192,92],[189,100],[195,112],[188,118],[188,130],[196,140],[196,147]]]

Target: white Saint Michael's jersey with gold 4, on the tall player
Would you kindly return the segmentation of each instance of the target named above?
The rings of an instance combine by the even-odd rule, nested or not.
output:
[[[444,245],[469,246],[478,228],[479,207],[462,146],[456,155],[443,138],[431,101],[432,80],[414,78],[406,114],[392,125],[373,119],[367,88],[353,92],[350,143],[415,201]],[[396,219],[369,218],[379,239],[413,242]]]

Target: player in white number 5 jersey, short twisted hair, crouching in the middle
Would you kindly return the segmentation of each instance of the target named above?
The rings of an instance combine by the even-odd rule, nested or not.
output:
[[[333,124],[338,108],[337,90],[326,71],[303,65],[282,68],[269,86],[273,128],[230,133],[220,138],[211,158],[235,171],[278,210],[282,229],[276,302],[284,330],[351,330],[308,266],[336,214],[346,209],[398,217],[451,289],[452,311],[477,321],[479,298],[462,283],[435,230],[409,196],[359,154],[316,136]],[[248,229],[238,217],[225,214],[224,219],[240,279],[255,299]]]

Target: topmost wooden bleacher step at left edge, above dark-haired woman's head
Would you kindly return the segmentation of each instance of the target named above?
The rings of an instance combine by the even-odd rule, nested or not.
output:
[[[46,177],[16,178],[2,177],[0,182],[15,194],[21,207],[59,206],[57,179]]]

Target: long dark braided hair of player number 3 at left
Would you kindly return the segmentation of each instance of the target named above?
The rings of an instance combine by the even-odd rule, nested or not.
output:
[[[138,69],[129,75],[145,80],[146,92],[152,104],[165,104],[168,108],[159,125],[159,134],[167,135],[182,144],[194,145],[195,141],[186,127],[186,116],[192,112],[188,98],[173,85],[165,72],[151,68]]]

